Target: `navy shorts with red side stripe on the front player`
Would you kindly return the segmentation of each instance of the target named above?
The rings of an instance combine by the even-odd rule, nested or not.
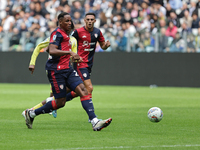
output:
[[[59,71],[47,70],[47,76],[55,98],[66,97],[67,87],[75,91],[75,88],[83,83],[77,72],[72,68]]]

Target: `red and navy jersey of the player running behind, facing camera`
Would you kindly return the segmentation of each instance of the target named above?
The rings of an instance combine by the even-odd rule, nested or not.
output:
[[[72,33],[72,36],[74,36],[77,40],[77,54],[83,58],[83,62],[77,63],[77,67],[92,68],[96,43],[105,41],[102,32],[95,27],[91,32],[87,31],[85,27],[81,27],[76,29]]]

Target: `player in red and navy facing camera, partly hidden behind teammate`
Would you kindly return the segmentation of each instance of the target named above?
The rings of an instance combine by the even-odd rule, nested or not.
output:
[[[90,79],[93,59],[95,54],[96,43],[99,42],[101,48],[106,50],[110,46],[109,41],[105,41],[100,29],[94,27],[96,22],[96,16],[94,13],[87,13],[84,18],[85,26],[76,29],[72,32],[72,36],[76,38],[78,44],[78,55],[82,57],[82,62],[74,63],[74,69],[78,72],[78,75],[84,82],[84,85],[88,91],[90,98],[92,98],[93,86]],[[77,96],[73,91],[71,97]]]

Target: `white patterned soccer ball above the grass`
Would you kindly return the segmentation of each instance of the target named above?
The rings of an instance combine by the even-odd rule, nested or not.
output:
[[[163,112],[159,107],[152,107],[149,109],[147,117],[151,122],[159,122],[163,118]]]

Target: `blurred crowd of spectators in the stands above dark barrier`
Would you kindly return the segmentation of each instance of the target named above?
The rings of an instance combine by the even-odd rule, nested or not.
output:
[[[75,28],[95,13],[108,52],[200,52],[200,0],[0,0],[0,51],[32,51],[60,12]]]

